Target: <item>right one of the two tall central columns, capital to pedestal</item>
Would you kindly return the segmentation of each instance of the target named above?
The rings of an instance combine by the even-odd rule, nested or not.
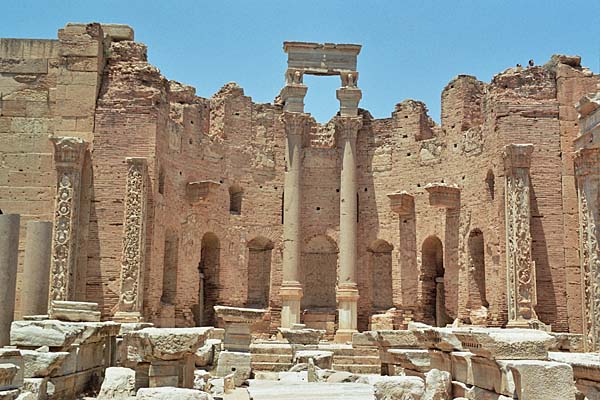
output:
[[[357,183],[356,137],[362,117],[337,117],[335,124],[341,141],[342,171],[340,180],[340,267],[338,269],[338,330],[335,340],[352,340],[356,332],[358,287],[356,285]]]

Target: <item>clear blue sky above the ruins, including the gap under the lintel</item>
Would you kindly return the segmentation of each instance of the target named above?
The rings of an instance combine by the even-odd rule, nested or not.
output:
[[[256,102],[283,86],[283,41],[359,43],[361,107],[378,118],[413,98],[439,120],[441,91],[457,74],[488,82],[554,53],[600,69],[599,0],[4,0],[0,10],[0,37],[56,38],[67,22],[131,25],[167,78],[203,97],[235,81]],[[305,80],[306,111],[319,121],[338,109],[338,79]]]

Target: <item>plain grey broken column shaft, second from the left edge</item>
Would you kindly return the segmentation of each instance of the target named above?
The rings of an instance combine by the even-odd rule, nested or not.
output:
[[[42,315],[48,312],[52,222],[29,221],[25,237],[21,314]]]

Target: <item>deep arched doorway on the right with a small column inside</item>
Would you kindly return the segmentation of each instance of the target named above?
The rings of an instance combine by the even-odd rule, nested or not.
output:
[[[446,326],[451,322],[446,313],[444,289],[444,247],[436,236],[429,236],[421,248],[421,285],[426,322]]]

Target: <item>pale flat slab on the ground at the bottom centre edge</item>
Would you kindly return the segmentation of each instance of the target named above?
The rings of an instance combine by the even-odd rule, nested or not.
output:
[[[250,381],[252,400],[375,400],[375,390],[364,383],[287,383]]]

